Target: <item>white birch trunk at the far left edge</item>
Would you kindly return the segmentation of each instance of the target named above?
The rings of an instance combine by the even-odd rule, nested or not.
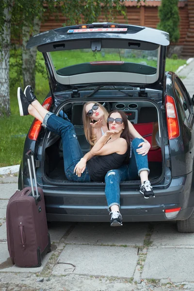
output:
[[[10,115],[9,96],[9,55],[10,55],[10,32],[13,0],[5,0],[4,25],[0,33],[0,117]]]

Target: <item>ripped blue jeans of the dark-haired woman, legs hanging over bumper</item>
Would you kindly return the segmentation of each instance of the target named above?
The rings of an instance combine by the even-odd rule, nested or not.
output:
[[[105,176],[105,195],[108,203],[108,210],[113,205],[118,205],[120,208],[120,182],[126,180],[134,180],[138,178],[143,170],[147,170],[149,174],[147,155],[138,155],[136,152],[138,145],[144,140],[134,138],[131,143],[131,158],[129,165],[122,166],[119,169],[109,171]]]

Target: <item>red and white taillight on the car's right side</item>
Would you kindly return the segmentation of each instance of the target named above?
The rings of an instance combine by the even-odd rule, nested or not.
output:
[[[179,125],[178,125],[178,116],[177,109],[175,105],[175,100],[171,96],[166,96],[165,101],[166,106],[166,119],[168,127],[168,138],[173,139],[179,136]]]

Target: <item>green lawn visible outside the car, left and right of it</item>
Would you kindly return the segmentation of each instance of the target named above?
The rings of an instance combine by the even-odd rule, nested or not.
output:
[[[41,53],[38,52],[38,60],[44,64]],[[15,59],[11,59],[11,64],[15,63]],[[166,60],[166,70],[176,71],[180,65],[186,64],[186,60]],[[46,75],[46,70],[44,76]],[[10,66],[10,81],[16,76],[12,65]],[[13,82],[12,82],[13,83]],[[12,84],[10,88],[10,105],[11,115],[9,117],[0,118],[0,167],[19,164],[21,161],[25,135],[32,124],[33,117],[19,116],[17,103],[17,87],[22,86],[21,81]],[[42,102],[49,92],[49,83],[41,73],[36,73],[36,90],[35,94],[39,101]]]

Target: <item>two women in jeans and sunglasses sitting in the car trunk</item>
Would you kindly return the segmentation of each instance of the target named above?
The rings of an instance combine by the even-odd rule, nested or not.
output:
[[[66,177],[80,182],[105,179],[111,226],[122,226],[122,216],[119,212],[121,180],[134,178],[134,174],[138,173],[142,181],[140,192],[145,198],[154,196],[148,181],[149,169],[146,156],[150,145],[133,128],[125,113],[114,111],[108,115],[99,103],[87,102],[84,105],[84,131],[93,147],[83,156],[74,126],[67,116],[63,119],[43,108],[33,94],[31,86],[27,86],[24,93],[21,88],[18,88],[20,115],[30,113],[42,122],[42,126],[61,136]],[[93,124],[94,120],[96,123]],[[130,136],[133,141],[129,163]]]

